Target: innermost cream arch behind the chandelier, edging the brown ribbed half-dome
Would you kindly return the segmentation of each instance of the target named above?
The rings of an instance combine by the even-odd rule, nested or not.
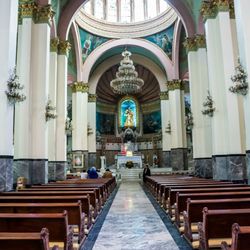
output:
[[[101,63],[95,70],[94,74],[91,76],[89,79],[89,93],[90,94],[95,94],[96,93],[96,88],[97,84],[103,75],[104,72],[106,72],[110,67],[114,66],[117,64],[117,62],[121,59],[120,55],[113,56],[109,59],[107,59],[105,62]],[[161,68],[152,62],[150,59],[148,59],[145,56],[141,55],[133,55],[133,61],[137,64],[140,64],[144,66],[145,68],[149,69],[154,76],[156,77],[160,90],[167,91],[167,77],[166,74],[161,70]]]

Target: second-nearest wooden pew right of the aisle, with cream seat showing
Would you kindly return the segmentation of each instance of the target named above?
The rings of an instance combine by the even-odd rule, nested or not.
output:
[[[203,209],[203,220],[198,223],[199,248],[208,250],[220,247],[225,241],[231,245],[231,228],[234,223],[250,225],[250,209],[209,210]]]

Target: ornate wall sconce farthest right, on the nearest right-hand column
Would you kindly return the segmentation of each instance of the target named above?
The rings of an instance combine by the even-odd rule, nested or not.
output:
[[[235,75],[231,77],[231,80],[234,83],[234,85],[229,88],[229,91],[241,95],[247,94],[248,92],[247,74],[240,63],[240,59],[238,59],[238,66],[235,68]]]

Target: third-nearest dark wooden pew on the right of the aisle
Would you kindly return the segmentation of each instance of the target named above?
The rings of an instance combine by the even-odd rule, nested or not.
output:
[[[187,209],[183,212],[184,236],[193,241],[192,234],[198,232],[197,223],[202,221],[203,208],[208,209],[242,209],[250,208],[250,198],[240,199],[215,199],[215,200],[191,200],[187,199]],[[192,227],[194,230],[192,231]]]

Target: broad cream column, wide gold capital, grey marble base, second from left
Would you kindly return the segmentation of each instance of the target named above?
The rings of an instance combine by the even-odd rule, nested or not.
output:
[[[46,183],[48,180],[45,108],[52,17],[50,5],[20,3],[17,72],[27,100],[16,109],[14,174],[15,177],[26,177],[28,183]]]

